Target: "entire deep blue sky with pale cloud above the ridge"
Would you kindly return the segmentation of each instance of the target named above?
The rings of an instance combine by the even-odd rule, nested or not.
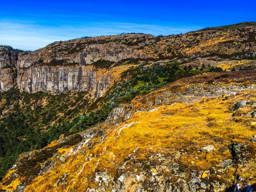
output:
[[[170,35],[256,21],[255,1],[1,1],[0,45],[36,50],[54,41],[126,33]]]

